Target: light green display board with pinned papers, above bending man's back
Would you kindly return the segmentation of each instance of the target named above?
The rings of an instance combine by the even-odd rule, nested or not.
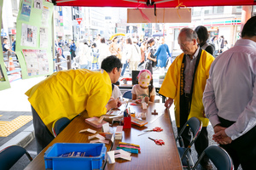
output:
[[[16,54],[22,79],[42,77],[53,73],[53,3],[20,1],[16,28]],[[38,1],[39,2],[39,1]],[[39,2],[40,3],[40,2]],[[24,6],[27,9],[24,12]],[[30,13],[28,15],[28,13]]]

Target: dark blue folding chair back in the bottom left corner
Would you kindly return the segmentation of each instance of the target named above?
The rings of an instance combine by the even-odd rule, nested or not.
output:
[[[0,151],[0,169],[8,170],[13,167],[17,161],[19,161],[20,157],[24,154],[28,157],[30,161],[32,161],[32,156],[19,145],[11,145]]]

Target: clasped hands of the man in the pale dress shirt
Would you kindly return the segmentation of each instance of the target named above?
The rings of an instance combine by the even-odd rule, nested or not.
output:
[[[225,127],[218,125],[214,127],[215,134],[212,135],[212,139],[218,144],[230,144],[232,142],[232,139],[225,133],[225,129]]]

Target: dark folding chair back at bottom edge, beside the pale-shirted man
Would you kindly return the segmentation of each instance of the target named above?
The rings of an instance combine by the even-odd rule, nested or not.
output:
[[[208,156],[212,161],[213,165],[217,167],[218,170],[233,170],[234,164],[230,155],[223,148],[218,145],[211,145],[205,149],[201,156],[198,158],[198,161],[195,162],[195,166],[192,168],[195,170],[197,165],[200,163],[203,156]]]

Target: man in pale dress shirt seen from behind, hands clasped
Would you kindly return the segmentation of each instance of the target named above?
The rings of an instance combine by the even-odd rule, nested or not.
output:
[[[213,140],[231,156],[235,169],[255,169],[256,160],[256,16],[241,39],[212,63],[203,94]]]

